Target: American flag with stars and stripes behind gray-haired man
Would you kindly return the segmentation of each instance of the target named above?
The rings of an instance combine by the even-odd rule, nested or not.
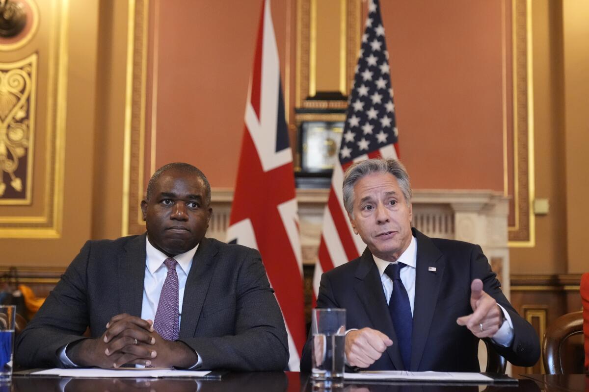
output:
[[[343,173],[359,160],[398,156],[398,133],[388,59],[380,5],[378,0],[370,0],[339,160],[333,167],[332,185],[323,214],[319,263],[316,264],[313,279],[315,294],[319,292],[319,280],[323,272],[356,259],[366,247],[362,239],[354,234],[343,207]]]

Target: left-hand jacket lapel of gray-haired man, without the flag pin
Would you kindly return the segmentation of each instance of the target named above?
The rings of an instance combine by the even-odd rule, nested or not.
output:
[[[368,248],[362,254],[360,264],[356,270],[355,290],[364,305],[366,313],[368,313],[370,321],[372,321],[374,329],[386,334],[393,341],[393,345],[388,347],[386,352],[396,370],[404,370],[401,352],[397,344],[397,336],[391,317],[389,317],[385,292],[382,289],[382,281]]]

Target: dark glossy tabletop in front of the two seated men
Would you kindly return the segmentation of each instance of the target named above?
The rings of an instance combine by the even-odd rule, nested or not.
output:
[[[417,383],[365,383],[353,381],[342,388],[325,390],[313,388],[309,374],[287,372],[227,373],[221,380],[201,380],[196,378],[59,378],[38,376],[14,376],[10,387],[0,387],[0,392],[8,391],[355,391],[355,392],[437,392],[437,391],[583,391],[589,392],[589,377],[583,374],[570,376],[519,376],[516,385],[449,385]]]

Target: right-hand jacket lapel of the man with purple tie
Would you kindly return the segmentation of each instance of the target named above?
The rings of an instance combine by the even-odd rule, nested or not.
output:
[[[180,338],[194,337],[200,311],[209,291],[214,271],[214,256],[219,252],[209,239],[203,238],[194,254],[192,266],[184,287]]]

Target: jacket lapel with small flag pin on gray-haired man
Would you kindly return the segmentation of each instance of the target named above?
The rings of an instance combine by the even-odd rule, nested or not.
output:
[[[434,317],[446,260],[429,237],[415,229],[413,229],[413,234],[417,238],[417,264],[411,339],[411,370],[418,370]],[[429,267],[434,267],[435,271],[430,271]]]

